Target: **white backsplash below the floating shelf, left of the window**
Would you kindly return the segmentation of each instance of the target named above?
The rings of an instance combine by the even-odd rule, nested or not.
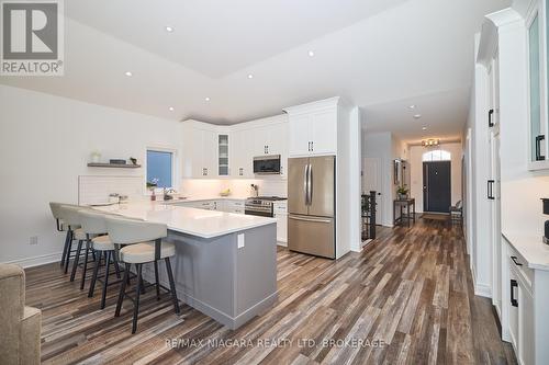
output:
[[[109,202],[109,194],[127,195],[130,199],[142,199],[144,194],[143,176],[78,176],[78,204],[103,204]]]

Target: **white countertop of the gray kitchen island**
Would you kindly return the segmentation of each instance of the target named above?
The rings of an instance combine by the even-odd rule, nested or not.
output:
[[[220,237],[277,223],[276,218],[204,210],[161,203],[139,202],[94,208],[124,217],[163,223],[172,231],[201,238]]]

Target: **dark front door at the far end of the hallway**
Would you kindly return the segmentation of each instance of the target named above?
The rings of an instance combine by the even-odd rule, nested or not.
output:
[[[451,205],[451,162],[423,162],[423,210],[449,213]]]

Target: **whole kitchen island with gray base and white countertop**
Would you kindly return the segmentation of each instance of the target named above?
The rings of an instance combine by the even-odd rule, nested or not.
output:
[[[166,224],[166,240],[176,243],[171,263],[179,299],[228,328],[277,300],[276,219],[153,202],[96,208]],[[144,266],[144,276],[154,282],[153,266]]]

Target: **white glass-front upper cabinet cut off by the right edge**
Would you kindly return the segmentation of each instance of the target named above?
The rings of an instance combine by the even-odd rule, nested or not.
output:
[[[546,0],[531,2],[527,19],[528,47],[528,146],[529,169],[548,169],[548,5]]]

